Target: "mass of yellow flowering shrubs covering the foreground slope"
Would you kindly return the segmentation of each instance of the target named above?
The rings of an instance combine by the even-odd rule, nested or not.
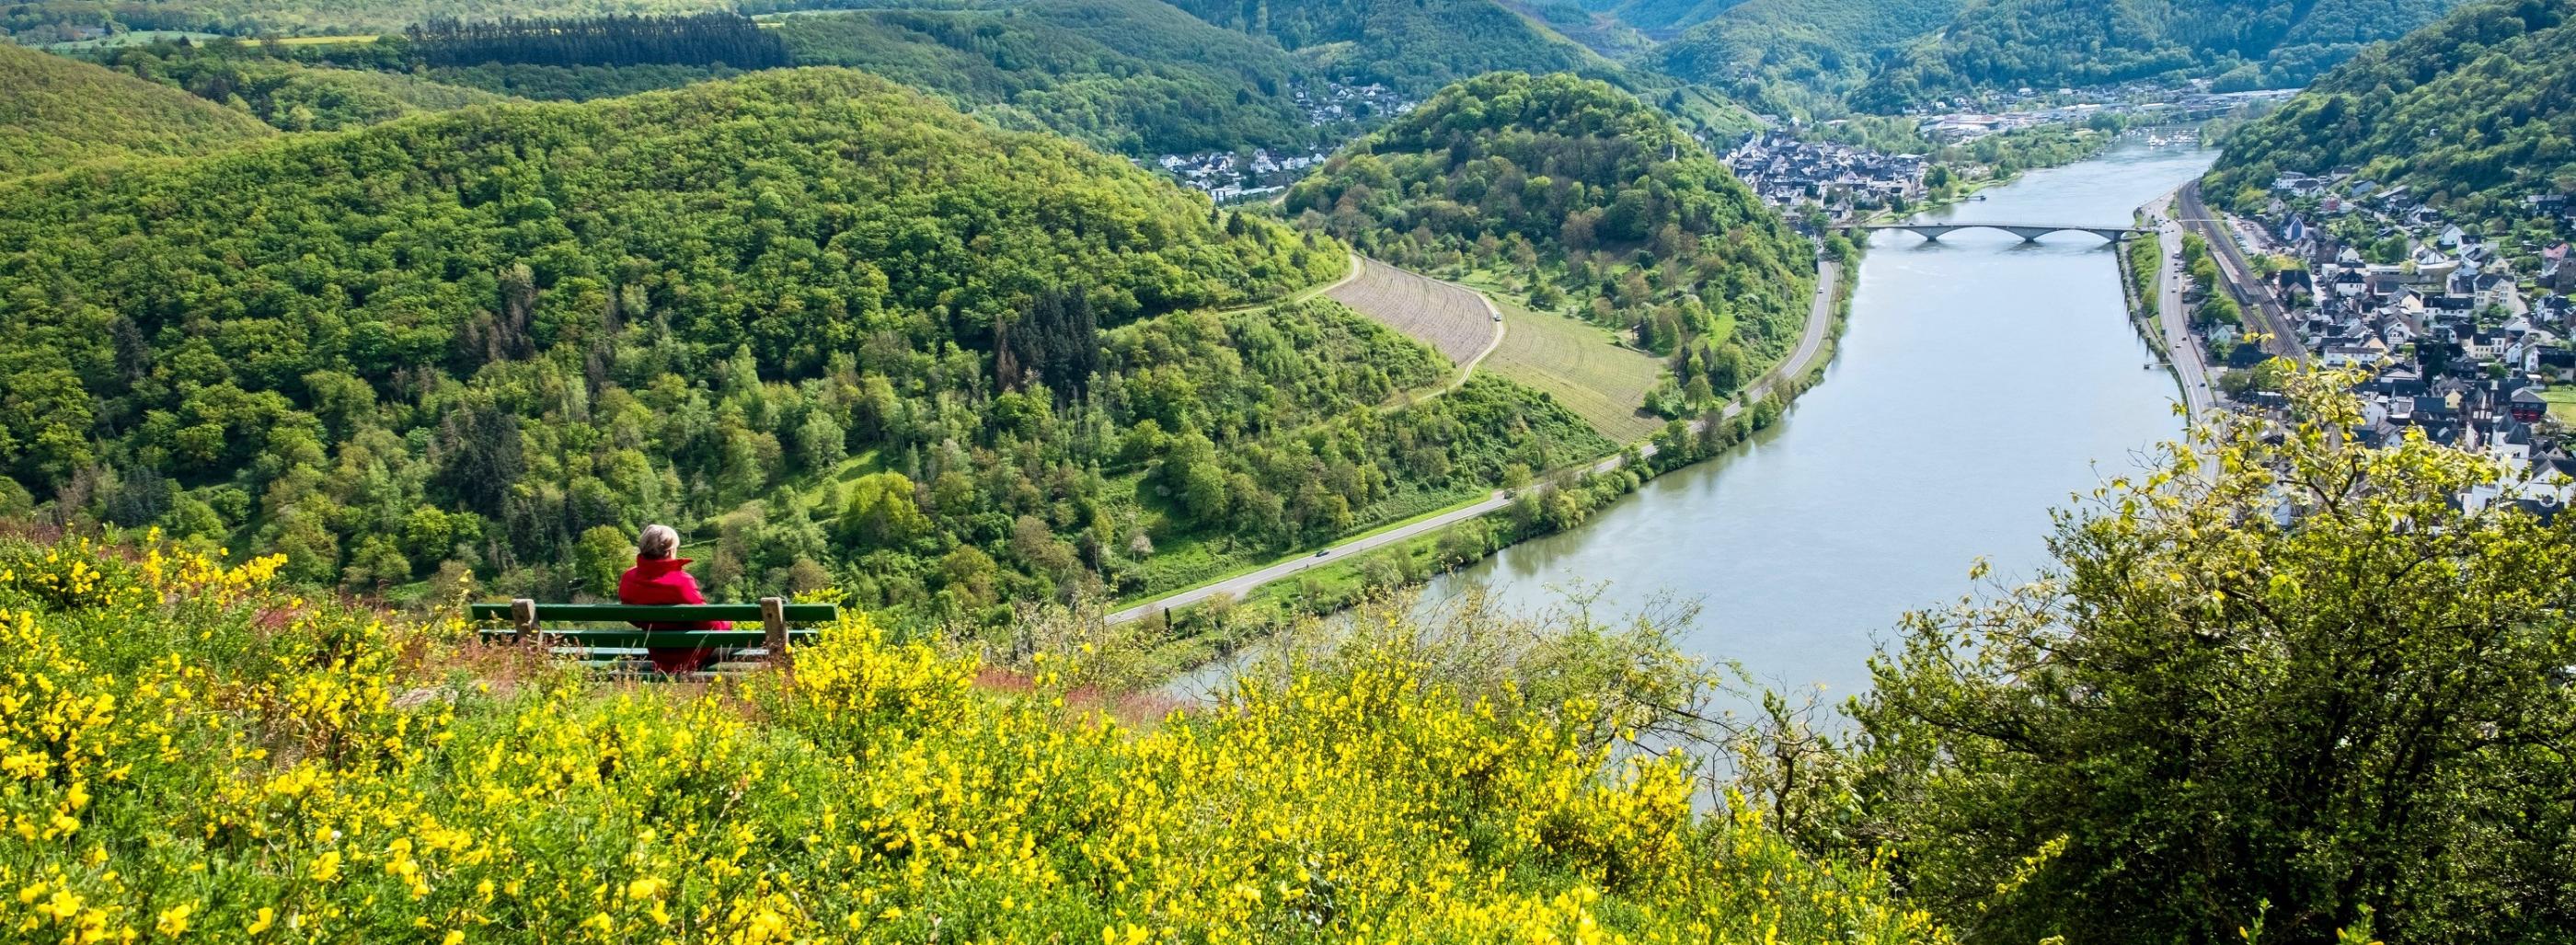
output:
[[[739,685],[482,677],[270,561],[0,561],[5,940],[1947,940],[1406,659],[1128,726],[866,618]]]

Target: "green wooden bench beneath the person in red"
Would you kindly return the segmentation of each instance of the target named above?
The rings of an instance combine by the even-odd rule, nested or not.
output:
[[[840,605],[786,603],[786,597],[760,597],[760,603],[690,603],[690,605],[634,605],[634,603],[477,603],[466,615],[487,626],[484,641],[549,646],[559,657],[582,657],[603,669],[634,669],[647,646],[716,649],[734,657],[765,657],[770,664],[788,664],[788,646],[806,644],[819,631],[814,623],[840,621]],[[644,631],[636,623],[706,623],[737,621],[760,623],[757,631]],[[644,669],[649,672],[649,669]]]

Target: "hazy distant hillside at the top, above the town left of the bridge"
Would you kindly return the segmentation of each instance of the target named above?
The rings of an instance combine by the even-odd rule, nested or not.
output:
[[[1646,54],[1687,82],[1718,85],[1767,113],[1839,111],[1883,57],[1950,23],[1960,0],[1747,0]]]

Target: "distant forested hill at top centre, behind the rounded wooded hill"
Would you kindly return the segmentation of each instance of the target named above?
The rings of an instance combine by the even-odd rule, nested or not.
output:
[[[1592,49],[1492,0],[1177,0],[1200,21],[1270,36],[1334,75],[1406,93],[1497,72],[1615,75]]]

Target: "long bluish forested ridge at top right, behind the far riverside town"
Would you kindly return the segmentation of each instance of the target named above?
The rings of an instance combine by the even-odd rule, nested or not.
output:
[[[2455,0],[1986,0],[1852,100],[1901,111],[1976,90],[2218,77],[2295,88]]]

